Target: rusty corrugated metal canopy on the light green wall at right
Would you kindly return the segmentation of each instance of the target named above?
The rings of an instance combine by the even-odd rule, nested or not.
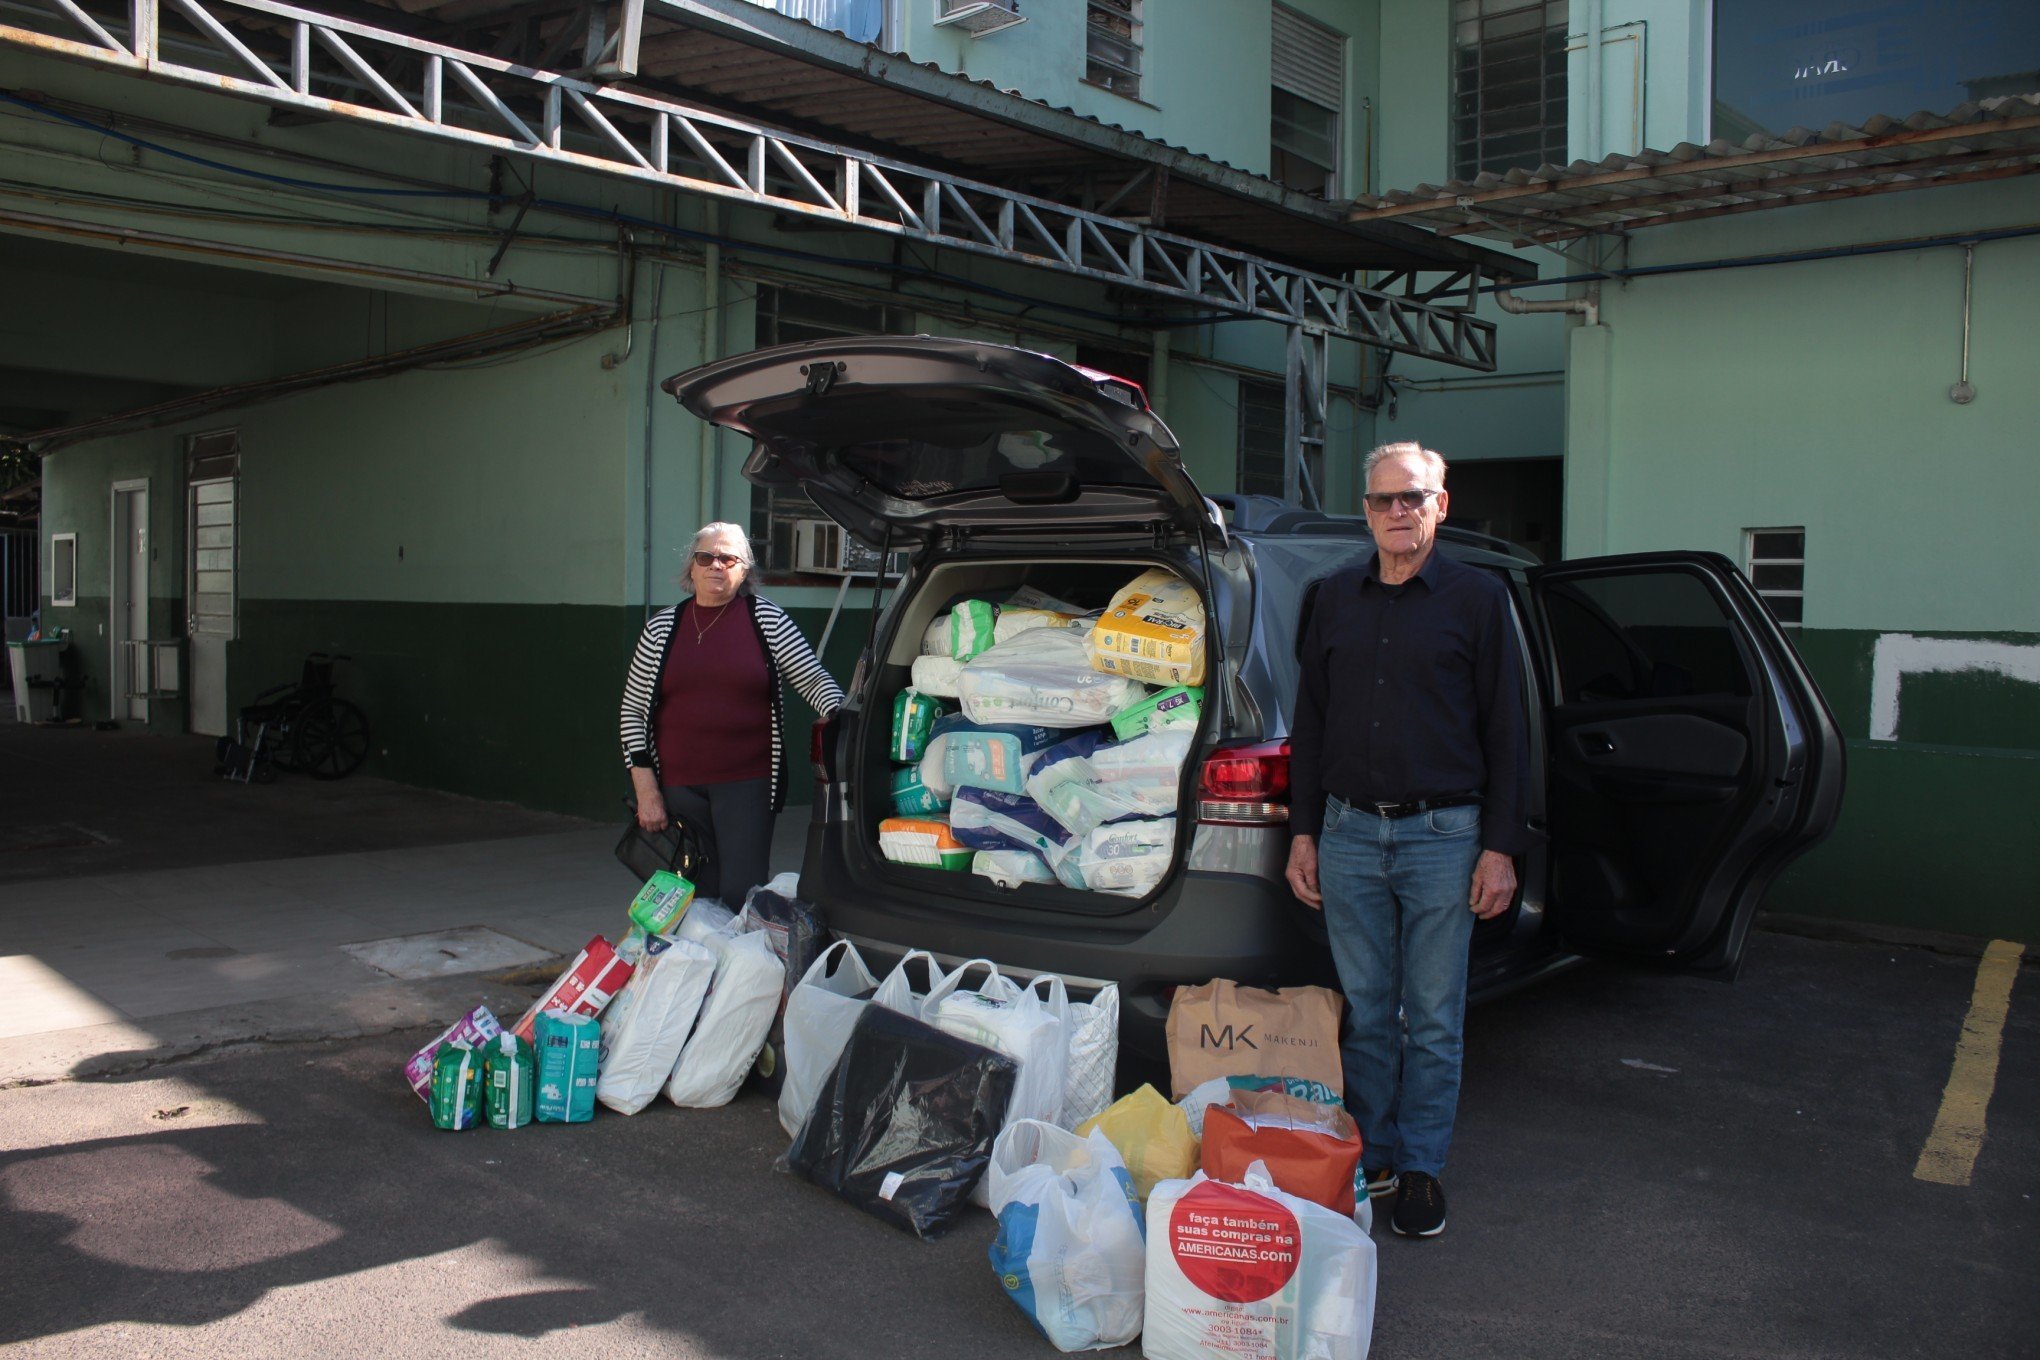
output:
[[[1552,245],[1593,232],[1693,222],[2040,171],[2040,96],[1948,114],[1793,128],[1785,137],[1681,143],[1605,161],[1542,165],[1420,186],[1355,204],[1357,222],[1420,222],[1440,237]]]

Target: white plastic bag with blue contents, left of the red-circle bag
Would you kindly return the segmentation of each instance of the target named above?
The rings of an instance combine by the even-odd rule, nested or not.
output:
[[[1140,1333],[1146,1236],[1132,1176],[1104,1134],[1018,1119],[991,1144],[991,1272],[1057,1350]]]

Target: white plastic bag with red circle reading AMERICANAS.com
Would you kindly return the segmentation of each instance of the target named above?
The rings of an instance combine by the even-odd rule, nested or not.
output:
[[[1149,1360],[1367,1360],[1375,1244],[1344,1213],[1275,1189],[1163,1181],[1146,1207]]]

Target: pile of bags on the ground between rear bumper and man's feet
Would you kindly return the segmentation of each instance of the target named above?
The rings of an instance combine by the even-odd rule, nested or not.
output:
[[[1106,1103],[1116,989],[1071,1003],[1055,977],[926,954],[875,979],[836,942],[787,999],[785,1166],[920,1238],[987,1205],[993,1276],[1059,1350],[1361,1360],[1373,1213],[1338,1005],[1318,987],[1181,989],[1177,1099]],[[1234,1042],[1248,1030],[1277,1042]],[[1304,1075],[1259,1070],[1261,1052]]]

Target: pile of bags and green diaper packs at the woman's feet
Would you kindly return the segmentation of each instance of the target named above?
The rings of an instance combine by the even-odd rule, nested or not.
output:
[[[732,913],[657,873],[618,940],[592,938],[514,1026],[477,1005],[404,1075],[443,1130],[585,1123],[596,1103],[634,1115],[661,1091],[675,1105],[726,1105],[755,1064],[775,1077],[787,979],[820,948],[796,875]]]

